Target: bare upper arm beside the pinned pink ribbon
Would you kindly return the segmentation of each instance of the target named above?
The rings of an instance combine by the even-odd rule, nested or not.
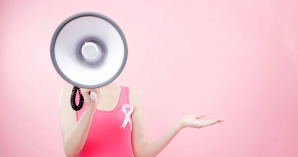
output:
[[[130,104],[134,108],[132,114],[132,146],[135,150],[138,147],[146,145],[148,141],[144,124],[144,107],[141,94],[138,91],[130,90],[129,99]]]

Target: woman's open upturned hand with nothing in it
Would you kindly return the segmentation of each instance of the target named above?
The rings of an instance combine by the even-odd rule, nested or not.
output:
[[[205,114],[200,115],[188,115],[184,116],[181,119],[181,124],[183,127],[190,127],[190,128],[203,128],[207,127],[216,123],[223,122],[223,119],[211,119],[211,120],[203,120],[201,118],[205,117]]]

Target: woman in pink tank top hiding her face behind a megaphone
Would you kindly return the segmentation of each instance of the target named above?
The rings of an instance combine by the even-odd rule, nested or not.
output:
[[[97,101],[90,101],[90,90],[97,93]],[[155,157],[181,129],[202,128],[223,121],[200,120],[204,114],[185,116],[159,140],[148,144],[138,91],[114,82],[100,89],[81,88],[85,102],[79,111],[71,107],[71,93],[72,87],[64,88],[59,99],[60,127],[67,157]]]

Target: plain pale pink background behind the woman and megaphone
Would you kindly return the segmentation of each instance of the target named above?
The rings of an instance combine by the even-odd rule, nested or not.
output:
[[[116,82],[142,92],[149,142],[185,114],[225,119],[158,157],[298,157],[297,0],[2,0],[1,157],[64,157],[50,40],[81,11],[124,31]]]

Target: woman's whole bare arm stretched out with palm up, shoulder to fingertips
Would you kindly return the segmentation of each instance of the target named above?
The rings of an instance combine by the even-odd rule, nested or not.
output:
[[[135,157],[157,156],[173,140],[178,132],[185,127],[202,128],[223,121],[222,119],[199,120],[200,118],[205,117],[204,114],[185,116],[160,139],[148,144],[144,125],[144,110],[140,93],[137,91],[130,91],[130,103],[134,107],[134,113],[132,114],[132,145]]]

